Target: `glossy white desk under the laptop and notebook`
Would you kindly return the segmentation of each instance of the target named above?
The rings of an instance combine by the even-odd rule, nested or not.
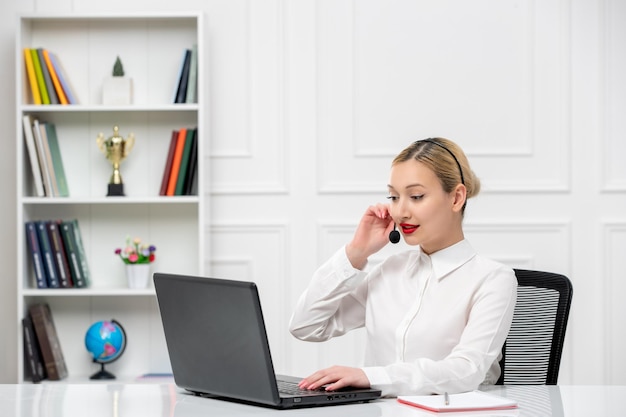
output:
[[[623,416],[626,386],[490,387],[514,398],[519,409],[500,412],[444,413],[457,416]],[[195,416],[342,416],[420,417],[437,413],[399,404],[395,399],[368,404],[299,410],[272,410],[200,398],[173,384],[21,384],[0,385],[0,413],[6,417],[195,417]],[[443,415],[443,414],[441,414]]]

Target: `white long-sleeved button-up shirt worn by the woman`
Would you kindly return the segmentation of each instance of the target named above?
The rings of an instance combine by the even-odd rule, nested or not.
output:
[[[365,327],[365,367],[385,396],[454,393],[493,384],[513,319],[513,270],[467,240],[426,255],[403,252],[363,271],[345,247],[313,275],[290,322],[323,341]]]

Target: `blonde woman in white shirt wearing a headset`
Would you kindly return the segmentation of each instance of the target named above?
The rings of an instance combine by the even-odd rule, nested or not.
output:
[[[454,393],[493,384],[516,300],[513,270],[478,255],[463,234],[480,181],[443,138],[414,142],[391,165],[389,204],[370,206],[352,241],[314,274],[290,322],[323,341],[365,327],[365,366],[333,366],[300,387],[373,387],[384,396]],[[415,249],[368,267],[396,225]]]

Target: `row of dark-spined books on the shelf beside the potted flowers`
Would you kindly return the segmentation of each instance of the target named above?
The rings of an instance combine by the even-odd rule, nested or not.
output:
[[[85,288],[89,265],[78,220],[37,220],[24,224],[37,288]]]

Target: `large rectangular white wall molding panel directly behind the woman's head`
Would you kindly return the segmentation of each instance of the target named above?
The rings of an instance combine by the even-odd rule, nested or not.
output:
[[[405,2],[412,17],[406,19],[375,2],[330,4],[318,3],[316,28],[321,194],[379,192],[393,156],[430,136],[459,142],[481,172],[486,192],[569,191],[566,2],[500,3],[498,21],[481,14],[492,2],[457,4],[460,10],[447,16],[447,24],[471,16],[473,27],[482,29],[463,37],[452,31],[455,35],[442,36],[437,47],[417,40],[446,32],[438,18],[449,13],[447,5]],[[402,39],[415,39],[414,49],[393,46]],[[463,78],[446,72],[443,63],[450,56],[458,57],[460,62],[451,64],[464,68]],[[470,56],[480,56],[481,64],[468,64]],[[477,108],[471,103],[480,90],[494,96]],[[508,97],[506,106],[500,93]]]

